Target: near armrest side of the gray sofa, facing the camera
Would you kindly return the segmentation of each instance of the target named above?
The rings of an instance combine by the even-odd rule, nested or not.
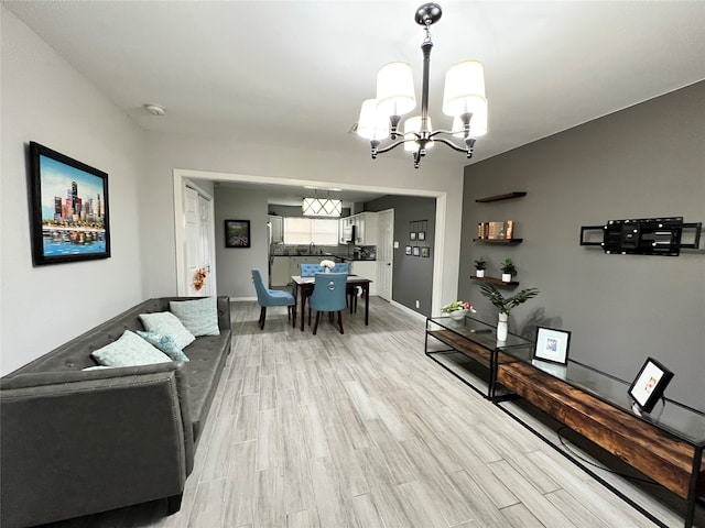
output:
[[[0,382],[3,527],[178,495],[193,468],[182,364]]]

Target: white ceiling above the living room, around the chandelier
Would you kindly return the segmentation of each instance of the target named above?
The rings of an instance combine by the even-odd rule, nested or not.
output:
[[[145,130],[359,156],[369,145],[350,129],[382,64],[409,62],[420,100],[421,3],[3,1]],[[442,7],[430,113],[449,127],[440,111],[445,72],[485,64],[489,132],[471,163],[705,78],[701,0]],[[470,163],[441,145],[431,156]]]

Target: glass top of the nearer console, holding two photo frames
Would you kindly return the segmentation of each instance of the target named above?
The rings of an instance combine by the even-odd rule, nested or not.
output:
[[[629,396],[631,383],[574,360],[568,360],[567,365],[534,360],[533,351],[533,344],[503,349],[505,354],[516,361],[529,363],[553,377],[640,417],[642,420],[695,446],[705,446],[705,414],[668,398],[659,402],[650,414],[639,413],[632,408],[632,400]]]

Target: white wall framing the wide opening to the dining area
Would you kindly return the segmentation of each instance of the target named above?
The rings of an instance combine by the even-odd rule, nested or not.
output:
[[[355,141],[354,138],[350,141]],[[247,144],[228,138],[206,139],[151,133],[149,135],[149,179],[141,194],[143,222],[143,272],[149,295],[175,293],[176,267],[173,223],[173,170],[219,173],[214,176],[250,175],[276,179],[324,182],[339,185],[369,185],[395,189],[447,193],[444,226],[446,245],[440,273],[441,302],[455,299],[458,280],[463,169],[459,165],[424,160],[414,169],[409,158],[370,160],[368,150],[359,156],[324,151],[282,148]],[[459,164],[465,160],[458,161]],[[216,191],[217,195],[217,191]],[[147,207],[149,205],[149,207]],[[245,219],[245,218],[243,218]],[[221,270],[218,270],[220,275]],[[221,290],[220,284],[218,285]],[[240,296],[241,294],[236,295]]]

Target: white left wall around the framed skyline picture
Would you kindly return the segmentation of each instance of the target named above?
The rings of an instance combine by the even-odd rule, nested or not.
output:
[[[0,352],[13,371],[144,297],[138,190],[143,134],[2,9]],[[108,173],[112,257],[32,266],[30,141]]]

